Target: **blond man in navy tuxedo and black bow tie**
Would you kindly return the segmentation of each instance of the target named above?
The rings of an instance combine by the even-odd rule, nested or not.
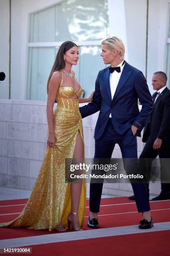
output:
[[[94,139],[94,158],[111,158],[119,144],[122,158],[137,158],[137,137],[153,107],[146,79],[142,72],[124,61],[124,44],[117,36],[102,40],[101,57],[110,67],[96,78],[93,101],[80,108],[82,118],[99,112]],[[138,109],[138,99],[142,110]],[[103,183],[90,184],[90,215],[88,226],[99,228],[97,215]],[[138,212],[142,212],[139,228],[151,228],[150,204],[144,183],[133,183]]]

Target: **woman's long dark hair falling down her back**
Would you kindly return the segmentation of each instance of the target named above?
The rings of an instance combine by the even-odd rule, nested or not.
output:
[[[66,53],[66,51],[68,51],[69,49],[71,49],[74,46],[77,46],[74,42],[66,41],[63,44],[61,44],[60,48],[58,49],[58,53],[57,53],[56,59],[54,61],[53,67],[51,69],[51,73],[49,75],[48,82],[47,82],[47,94],[48,94],[48,84],[50,82],[53,72],[55,72],[57,70],[61,70],[65,67],[65,61],[64,61],[63,55]],[[78,48],[78,46],[77,46],[77,48]]]

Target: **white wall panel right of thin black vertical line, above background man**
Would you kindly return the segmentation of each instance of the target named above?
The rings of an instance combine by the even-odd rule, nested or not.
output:
[[[170,15],[168,3],[170,0],[149,0],[147,82],[151,92],[154,92],[151,84],[153,73],[166,72],[167,31]]]

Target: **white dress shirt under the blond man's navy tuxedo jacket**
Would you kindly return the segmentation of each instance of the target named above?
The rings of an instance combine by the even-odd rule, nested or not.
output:
[[[123,63],[123,61],[117,66],[117,67],[120,67],[120,72],[119,73],[116,70],[114,70],[113,73],[110,73],[110,90],[111,90],[112,100],[113,100],[113,96],[114,96],[114,93],[116,91],[117,84],[119,82],[120,76],[122,74],[122,70],[124,68],[124,64],[122,66],[122,63]],[[109,117],[110,118],[112,117],[111,113],[110,113]]]

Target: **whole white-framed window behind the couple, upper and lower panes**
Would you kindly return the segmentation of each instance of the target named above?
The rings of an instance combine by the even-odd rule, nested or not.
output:
[[[100,40],[107,36],[107,29],[107,0],[67,0],[31,13],[27,99],[47,99],[47,80],[58,47],[68,40],[79,46],[80,59],[73,69],[88,96],[99,70],[105,67]]]

